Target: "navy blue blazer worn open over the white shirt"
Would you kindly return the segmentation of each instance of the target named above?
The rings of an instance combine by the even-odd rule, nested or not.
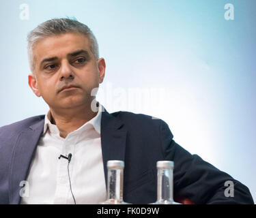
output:
[[[0,128],[0,204],[20,203],[20,181],[26,181],[44,115]],[[198,155],[191,155],[173,140],[164,121],[131,112],[102,112],[102,157],[125,162],[124,201],[148,204],[156,201],[156,161],[174,161],[174,199],[195,204],[253,204],[248,188]],[[86,158],[86,157],[85,157]],[[225,181],[233,181],[234,197],[225,197]],[[44,187],[42,187],[44,191]]]

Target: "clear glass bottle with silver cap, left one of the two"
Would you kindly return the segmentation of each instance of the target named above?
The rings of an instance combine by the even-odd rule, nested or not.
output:
[[[129,204],[123,200],[124,161],[107,161],[107,200],[101,204]]]

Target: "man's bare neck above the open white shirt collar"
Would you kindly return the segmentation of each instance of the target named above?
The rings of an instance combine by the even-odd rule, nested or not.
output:
[[[94,118],[96,114],[97,112],[93,112],[91,110],[91,106],[61,110],[50,108],[48,119],[51,123],[57,125],[59,129],[59,136],[66,138],[70,132],[79,129],[79,127],[87,123],[87,121]]]

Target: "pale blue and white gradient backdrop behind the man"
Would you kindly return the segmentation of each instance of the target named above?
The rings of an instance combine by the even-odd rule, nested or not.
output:
[[[22,3],[29,20],[19,18]],[[226,3],[235,8],[234,20],[224,18]],[[48,110],[27,84],[27,33],[50,18],[74,16],[94,31],[106,60],[98,96],[106,110],[165,120],[178,144],[244,183],[256,202],[255,6],[255,0],[2,1],[0,126]],[[164,91],[137,108],[119,104],[116,97],[131,88]]]

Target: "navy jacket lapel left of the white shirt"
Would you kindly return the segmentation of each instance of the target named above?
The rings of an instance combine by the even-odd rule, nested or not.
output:
[[[12,153],[10,166],[10,204],[20,202],[20,182],[25,181],[33,153],[44,129],[44,119],[20,133]]]

